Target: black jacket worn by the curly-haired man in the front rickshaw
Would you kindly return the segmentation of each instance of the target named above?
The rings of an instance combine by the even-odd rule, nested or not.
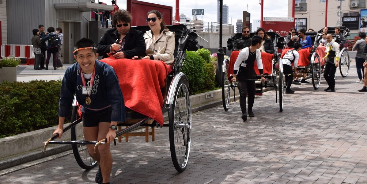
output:
[[[120,38],[120,36],[116,28],[108,30],[97,44],[97,53],[103,55],[103,58],[107,58],[107,53],[110,52],[111,45],[115,43],[118,38]],[[126,35],[123,52],[127,58],[145,55],[145,41],[141,31],[130,28],[129,33]]]

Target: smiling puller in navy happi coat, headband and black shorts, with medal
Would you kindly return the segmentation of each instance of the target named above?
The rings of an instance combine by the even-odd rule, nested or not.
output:
[[[74,94],[83,113],[83,133],[86,141],[107,139],[94,153],[94,145],[87,145],[91,157],[99,163],[95,182],[109,184],[112,169],[110,142],[116,137],[117,122],[125,117],[124,98],[119,80],[111,66],[97,61],[97,48],[92,40],[82,38],[75,44],[77,63],[66,69],[62,79],[59,124],[53,135],[61,138],[65,117],[69,116]]]

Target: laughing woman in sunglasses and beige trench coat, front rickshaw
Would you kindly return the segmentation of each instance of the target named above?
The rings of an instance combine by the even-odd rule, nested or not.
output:
[[[172,64],[174,61],[175,32],[168,30],[161,13],[157,10],[148,12],[146,22],[150,30],[144,34],[146,50],[142,59],[161,60],[167,65]]]

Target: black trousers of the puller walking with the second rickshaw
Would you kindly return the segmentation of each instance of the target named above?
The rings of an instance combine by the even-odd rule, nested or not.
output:
[[[255,101],[255,80],[240,81],[238,83],[238,90],[240,91],[240,107],[242,114],[246,114],[246,92],[248,93],[248,109],[252,109]]]

